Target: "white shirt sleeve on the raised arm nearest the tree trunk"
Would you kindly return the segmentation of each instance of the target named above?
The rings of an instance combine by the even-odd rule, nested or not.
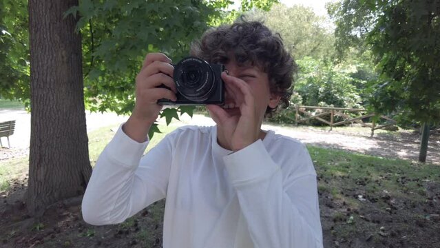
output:
[[[166,196],[171,134],[143,156],[149,141],[133,141],[121,127],[96,161],[85,190],[83,218],[92,225],[122,223]]]

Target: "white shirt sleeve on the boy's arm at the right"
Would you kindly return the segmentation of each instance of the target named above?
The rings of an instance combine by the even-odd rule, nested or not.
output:
[[[286,161],[302,169],[284,180],[260,140],[224,157],[255,247],[323,246],[315,169],[300,148]]]

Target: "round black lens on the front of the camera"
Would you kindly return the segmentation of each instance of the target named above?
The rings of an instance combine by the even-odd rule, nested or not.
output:
[[[174,67],[174,81],[182,96],[191,101],[202,102],[213,91],[214,73],[206,61],[187,57]]]

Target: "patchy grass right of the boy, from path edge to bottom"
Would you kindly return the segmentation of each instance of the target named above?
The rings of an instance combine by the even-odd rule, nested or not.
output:
[[[370,247],[388,247],[395,240],[382,237],[379,227],[392,230],[387,235],[396,239],[397,234],[412,236],[414,243],[432,235],[423,233],[419,223],[428,221],[422,225],[429,225],[429,231],[437,228],[424,216],[438,211],[428,187],[440,184],[439,165],[312,146],[308,151],[318,176],[324,234],[328,231],[333,240],[371,236]]]

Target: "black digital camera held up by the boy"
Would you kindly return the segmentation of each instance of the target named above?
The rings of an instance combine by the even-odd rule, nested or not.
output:
[[[159,99],[159,105],[224,104],[224,82],[220,76],[224,65],[189,56],[173,66],[177,101]]]

